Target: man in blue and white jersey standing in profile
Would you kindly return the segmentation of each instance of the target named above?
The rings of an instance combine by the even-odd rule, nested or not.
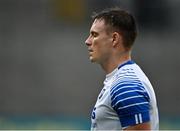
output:
[[[89,59],[106,72],[104,87],[92,111],[91,130],[157,130],[156,97],[151,83],[131,60],[137,35],[133,16],[121,9],[93,16],[85,41]]]

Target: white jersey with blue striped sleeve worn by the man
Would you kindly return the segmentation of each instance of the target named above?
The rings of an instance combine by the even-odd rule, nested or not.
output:
[[[123,130],[145,122],[158,130],[155,93],[137,64],[127,61],[106,75],[91,121],[91,130]]]

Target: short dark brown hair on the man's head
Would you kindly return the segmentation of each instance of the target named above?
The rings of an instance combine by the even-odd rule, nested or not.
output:
[[[134,17],[120,8],[108,8],[94,13],[92,19],[102,19],[113,31],[119,32],[123,37],[123,44],[130,49],[137,36],[137,27]]]

